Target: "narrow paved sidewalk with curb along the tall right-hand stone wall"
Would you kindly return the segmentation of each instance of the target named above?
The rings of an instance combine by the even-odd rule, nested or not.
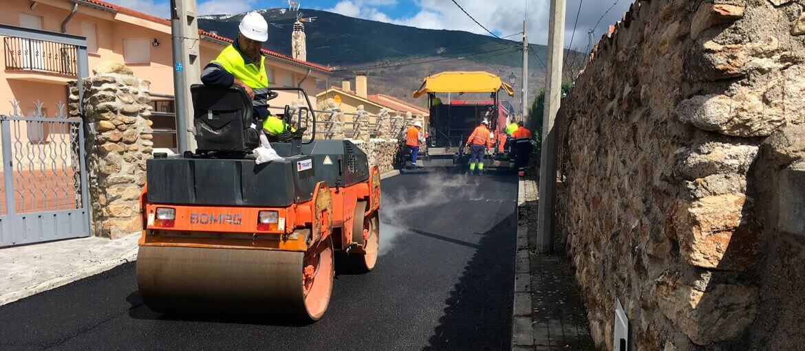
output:
[[[535,251],[537,182],[519,182],[512,349],[595,350],[574,268],[564,247]],[[555,240],[556,241],[556,240]],[[556,244],[555,244],[556,246]]]

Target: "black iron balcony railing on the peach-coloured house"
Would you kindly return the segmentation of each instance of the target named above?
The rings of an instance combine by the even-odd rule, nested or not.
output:
[[[78,47],[16,37],[3,38],[6,71],[41,71],[78,76]]]

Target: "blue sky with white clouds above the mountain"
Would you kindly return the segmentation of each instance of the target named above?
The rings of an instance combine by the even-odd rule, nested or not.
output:
[[[168,0],[106,0],[148,14],[167,18]],[[199,14],[239,14],[249,10],[287,7],[286,0],[197,0]],[[296,0],[299,1],[299,0]],[[496,35],[518,39],[526,14],[529,42],[547,42],[548,0],[456,0],[464,10]],[[303,8],[328,10],[350,17],[390,22],[427,29],[451,29],[486,34],[450,0],[301,0]],[[632,0],[568,0],[565,45],[577,50],[588,46],[588,30],[594,40],[629,9]],[[581,6],[580,6],[581,5]],[[576,22],[578,14],[578,22]],[[575,31],[574,31],[575,25]],[[574,34],[575,33],[575,34]]]

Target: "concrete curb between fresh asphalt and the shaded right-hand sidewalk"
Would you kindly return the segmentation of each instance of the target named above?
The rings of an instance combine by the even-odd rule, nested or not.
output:
[[[512,350],[534,349],[534,316],[531,311],[531,263],[528,247],[527,223],[520,223],[520,212],[526,206],[526,186],[518,180],[517,245],[514,251],[514,306],[511,312]]]

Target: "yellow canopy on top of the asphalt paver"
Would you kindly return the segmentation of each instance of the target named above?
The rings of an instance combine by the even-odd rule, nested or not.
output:
[[[503,83],[501,77],[484,71],[447,71],[426,77],[422,86],[414,92],[414,97],[423,96],[428,92],[497,92],[505,90],[509,96],[514,96],[509,84]]]

